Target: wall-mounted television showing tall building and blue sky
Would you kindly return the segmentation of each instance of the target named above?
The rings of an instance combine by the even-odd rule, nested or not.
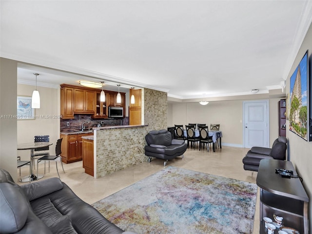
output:
[[[307,141],[310,128],[309,53],[305,53],[290,78],[289,130]]]

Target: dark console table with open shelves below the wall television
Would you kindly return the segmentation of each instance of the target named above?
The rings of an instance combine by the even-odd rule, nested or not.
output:
[[[275,173],[275,168],[292,170],[292,162],[262,159],[260,161],[256,183],[260,187],[260,234],[267,230],[263,217],[273,220],[273,215],[282,216],[282,226],[297,230],[300,234],[309,234],[308,203],[309,197],[299,178],[283,178]],[[278,226],[274,233],[279,230]]]

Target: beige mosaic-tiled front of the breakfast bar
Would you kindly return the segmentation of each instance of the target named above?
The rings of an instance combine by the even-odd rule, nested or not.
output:
[[[94,130],[94,177],[137,165],[146,160],[148,125],[97,127]]]

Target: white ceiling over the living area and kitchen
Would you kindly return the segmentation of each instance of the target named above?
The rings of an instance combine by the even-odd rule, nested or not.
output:
[[[38,72],[43,86],[106,80],[180,99],[281,88],[312,22],[311,0],[0,4],[1,57],[87,76],[21,63],[20,83]]]

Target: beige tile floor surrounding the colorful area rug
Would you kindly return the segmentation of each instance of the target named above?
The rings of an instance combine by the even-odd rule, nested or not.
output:
[[[210,149],[199,151],[198,149],[188,149],[184,153],[184,158],[177,157],[168,162],[167,166],[175,166],[198,172],[224,176],[255,183],[257,173],[245,171],[243,169],[242,158],[248,149],[223,146],[213,152]],[[82,200],[92,204],[108,195],[111,195],[135,182],[152,175],[164,168],[163,160],[153,159],[150,163],[143,162],[136,166],[115,172],[111,175],[95,179],[84,173],[82,161],[65,164],[63,163],[65,174],[59,164],[59,174],[65,182]],[[22,168],[21,175],[27,175],[27,167]],[[39,164],[39,173],[43,173],[43,163]],[[19,176],[19,174],[18,174]],[[56,177],[55,163],[51,163],[50,173],[46,173],[42,179]],[[21,184],[21,183],[20,183]],[[259,191],[257,194],[254,232],[259,233]]]

